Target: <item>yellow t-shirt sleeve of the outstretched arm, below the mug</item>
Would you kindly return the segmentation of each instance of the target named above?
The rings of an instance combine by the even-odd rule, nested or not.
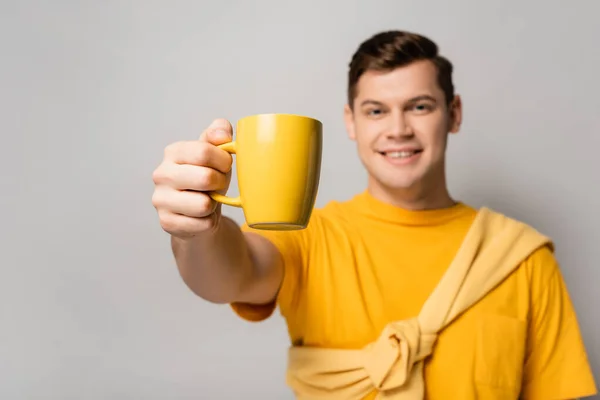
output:
[[[314,220],[314,216],[312,220]],[[269,318],[277,305],[287,314],[297,305],[298,293],[304,281],[309,250],[311,224],[302,230],[270,231],[241,226],[243,232],[252,232],[267,238],[279,250],[283,260],[283,281],[275,300],[268,304],[231,303],[233,311],[242,319],[259,322]]]

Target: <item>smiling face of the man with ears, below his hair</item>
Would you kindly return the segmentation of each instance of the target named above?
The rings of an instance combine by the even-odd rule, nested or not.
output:
[[[432,62],[366,71],[352,104],[345,108],[346,127],[373,194],[423,200],[446,193],[446,142],[449,132],[458,132],[462,107],[458,96],[447,103]]]

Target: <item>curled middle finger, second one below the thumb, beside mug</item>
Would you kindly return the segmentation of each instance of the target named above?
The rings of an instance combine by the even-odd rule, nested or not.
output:
[[[169,164],[155,183],[169,185],[177,190],[222,190],[227,187],[227,175],[212,168],[195,165]]]

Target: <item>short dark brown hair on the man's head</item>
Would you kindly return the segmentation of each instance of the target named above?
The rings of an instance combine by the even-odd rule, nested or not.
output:
[[[452,63],[439,55],[438,46],[431,39],[406,31],[378,33],[360,44],[348,71],[348,105],[352,108],[356,85],[365,72],[391,71],[415,61],[429,60],[437,68],[438,84],[444,92],[446,103],[454,99]]]

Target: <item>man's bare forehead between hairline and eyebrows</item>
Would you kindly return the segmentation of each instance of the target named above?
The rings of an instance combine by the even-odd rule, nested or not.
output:
[[[437,68],[427,60],[392,71],[369,70],[358,80],[356,100],[402,101],[424,94],[441,98],[437,75]]]

